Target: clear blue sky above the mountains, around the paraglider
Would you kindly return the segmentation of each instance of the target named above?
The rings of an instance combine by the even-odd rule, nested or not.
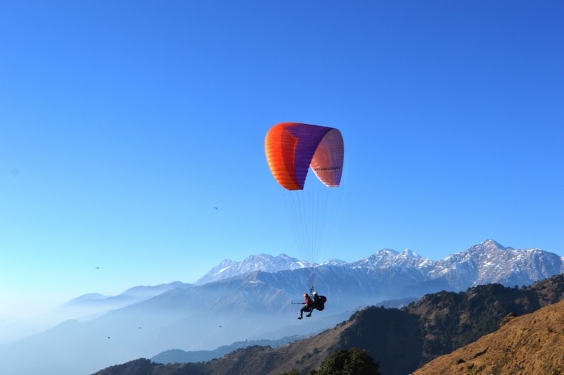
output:
[[[344,137],[321,261],[564,255],[563,41],[562,1],[2,1],[0,319],[299,257],[286,121]]]

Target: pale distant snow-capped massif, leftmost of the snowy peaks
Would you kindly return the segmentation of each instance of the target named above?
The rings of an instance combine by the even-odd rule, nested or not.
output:
[[[207,274],[200,277],[195,285],[202,285],[211,281],[220,281],[229,279],[229,277],[245,275],[249,272],[263,271],[276,272],[280,270],[295,270],[298,268],[309,268],[317,266],[307,261],[300,261],[291,258],[286,254],[280,254],[278,257],[272,255],[260,254],[251,255],[242,261],[232,261],[225,259],[218,266],[211,268]]]

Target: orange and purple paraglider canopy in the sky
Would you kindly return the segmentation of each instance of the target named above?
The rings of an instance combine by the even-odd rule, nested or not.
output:
[[[285,189],[304,189],[309,167],[328,187],[341,182],[344,145],[338,129],[281,122],[267,133],[264,152],[275,180]]]

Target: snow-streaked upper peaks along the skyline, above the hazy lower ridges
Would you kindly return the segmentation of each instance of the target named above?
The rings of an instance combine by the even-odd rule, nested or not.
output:
[[[386,283],[392,287],[397,287],[398,283],[395,281],[399,281],[401,285],[417,286],[422,289],[425,289],[428,283],[440,283],[448,289],[463,290],[470,286],[494,282],[508,286],[528,285],[533,281],[562,272],[563,259],[556,254],[536,248],[523,250],[506,248],[492,239],[439,261],[421,257],[409,249],[401,253],[383,249],[359,261],[346,263],[331,259],[321,265],[309,264],[284,254],[278,257],[261,254],[240,262],[229,259],[222,261],[195,284],[203,285],[231,277],[243,277],[252,272],[275,274],[284,271],[293,274],[303,270],[314,270],[316,275],[346,277],[348,273],[366,279],[362,281],[377,281],[379,285]],[[329,284],[324,278],[323,281]],[[383,295],[390,294],[388,297],[397,296],[397,290],[391,290],[390,293],[383,289],[375,291]]]

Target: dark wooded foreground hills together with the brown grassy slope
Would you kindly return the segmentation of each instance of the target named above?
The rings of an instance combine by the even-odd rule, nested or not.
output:
[[[462,354],[448,356],[446,362],[439,361],[442,357],[437,358],[439,367],[430,363],[421,369],[426,369],[426,372],[421,374],[485,373],[480,372],[480,369],[503,366],[510,368],[513,373],[519,372],[519,369],[530,369],[522,372],[548,374],[551,373],[550,370],[561,368],[558,366],[562,365],[560,343],[564,339],[563,303],[563,275],[538,281],[526,288],[489,284],[469,288],[466,292],[428,294],[420,301],[401,309],[374,306],[365,308],[353,314],[347,321],[309,339],[276,348],[248,347],[231,352],[219,360],[198,364],[163,366],[147,360],[138,360],[109,367],[95,375],[148,373],[134,371],[140,363],[145,368],[152,369],[150,373],[155,375],[275,375],[289,372],[291,369],[299,369],[301,374],[307,374],[310,369],[317,368],[332,352],[351,347],[368,350],[379,362],[382,374],[406,375],[445,354],[443,352],[451,352],[464,345],[468,345],[470,349],[455,352]],[[446,308],[450,309],[448,314],[445,313]],[[530,314],[531,312],[534,314]],[[510,318],[520,315],[523,317],[514,320]],[[514,322],[520,320],[525,323],[512,329]],[[500,334],[489,334],[497,331],[500,325],[503,325]],[[534,327],[530,330],[532,325]],[[481,336],[476,338],[479,339],[476,341],[478,346],[471,344],[475,341],[472,334],[462,337],[464,333],[481,331]],[[484,336],[485,334],[488,336]],[[496,335],[497,341],[492,341],[492,337]],[[487,344],[479,344],[486,337],[489,340]],[[508,339],[512,342],[514,350],[508,350],[508,345],[500,344]],[[535,344],[525,348],[521,345],[523,339]],[[515,357],[518,351],[519,356]],[[497,354],[492,357],[485,355],[486,352]],[[481,361],[481,355],[484,355],[487,361]],[[512,362],[512,358],[521,360]],[[525,361],[525,358],[534,360]],[[444,363],[449,366],[447,369],[443,368],[446,366]],[[540,371],[541,368],[543,371]],[[537,369],[539,371],[536,371]],[[419,371],[415,374],[419,374]]]

